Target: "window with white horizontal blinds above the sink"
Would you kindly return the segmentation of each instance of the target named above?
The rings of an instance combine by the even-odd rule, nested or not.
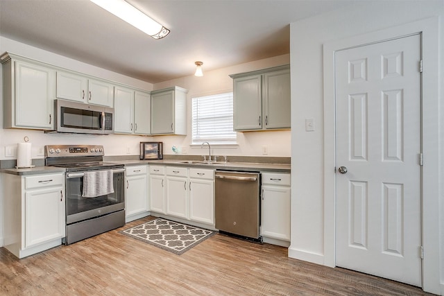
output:
[[[192,99],[193,143],[235,144],[233,93]]]

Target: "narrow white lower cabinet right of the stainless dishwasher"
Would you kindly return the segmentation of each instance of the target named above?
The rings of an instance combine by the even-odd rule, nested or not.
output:
[[[262,173],[261,235],[264,241],[266,238],[290,241],[290,200],[290,174]],[[288,246],[287,243],[283,245]]]

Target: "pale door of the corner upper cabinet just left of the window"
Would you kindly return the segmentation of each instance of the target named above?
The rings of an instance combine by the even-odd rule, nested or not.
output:
[[[151,134],[174,133],[174,92],[151,96]]]

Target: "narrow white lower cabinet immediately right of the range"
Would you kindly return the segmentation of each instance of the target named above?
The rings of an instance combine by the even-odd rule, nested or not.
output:
[[[126,168],[126,222],[148,216],[148,166]]]

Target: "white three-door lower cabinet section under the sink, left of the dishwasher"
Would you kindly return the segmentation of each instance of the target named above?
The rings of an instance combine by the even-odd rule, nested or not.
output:
[[[214,226],[213,169],[150,166],[149,178],[152,212]]]

